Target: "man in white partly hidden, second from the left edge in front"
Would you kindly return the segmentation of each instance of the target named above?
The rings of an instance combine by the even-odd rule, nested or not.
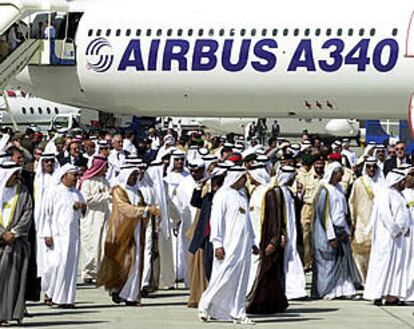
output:
[[[45,229],[45,225],[47,225],[46,204],[48,196],[55,187],[54,174],[58,169],[59,163],[55,155],[43,153],[33,183],[37,276],[41,278],[42,291],[46,291],[49,286],[45,274],[47,273],[48,256],[50,255],[47,245],[50,245],[51,236],[47,227]]]

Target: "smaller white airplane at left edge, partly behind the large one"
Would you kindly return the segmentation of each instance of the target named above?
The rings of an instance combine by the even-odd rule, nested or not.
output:
[[[71,117],[80,118],[81,109],[33,97],[19,90],[0,91],[0,126],[47,130],[53,124],[61,128]]]

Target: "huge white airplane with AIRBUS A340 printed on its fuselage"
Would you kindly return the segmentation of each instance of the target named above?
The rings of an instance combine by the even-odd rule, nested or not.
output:
[[[408,117],[414,131],[410,1],[67,5],[15,81],[46,99],[152,116]],[[34,17],[36,32],[48,16]]]

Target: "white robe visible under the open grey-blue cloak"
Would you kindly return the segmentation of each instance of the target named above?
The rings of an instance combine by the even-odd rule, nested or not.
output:
[[[335,239],[336,234],[334,225],[343,227],[348,236],[351,235],[348,223],[346,221],[346,215],[348,213],[348,205],[344,193],[341,187],[332,186],[331,184],[325,184],[325,187],[329,191],[330,197],[330,209],[328,216],[328,225],[326,229],[328,240]],[[333,299],[337,297],[352,296],[356,294],[356,290],[353,282],[348,279],[342,279],[338,282],[336,287],[332,289],[326,296],[325,299]]]

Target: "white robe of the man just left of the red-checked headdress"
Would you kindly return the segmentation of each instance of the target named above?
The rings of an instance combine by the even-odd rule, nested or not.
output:
[[[59,184],[48,200],[48,222],[53,237],[50,284],[47,295],[56,304],[74,304],[79,262],[79,221],[81,211],[74,210],[75,202],[85,202],[75,188]]]

